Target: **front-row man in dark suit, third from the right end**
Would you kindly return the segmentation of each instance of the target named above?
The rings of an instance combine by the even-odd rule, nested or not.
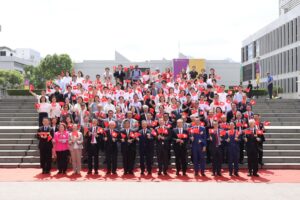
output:
[[[218,176],[221,175],[221,168],[222,168],[222,137],[221,137],[221,130],[219,129],[219,125],[217,121],[213,122],[213,129],[210,129],[210,136],[209,139],[211,141],[210,149],[212,155],[212,168],[213,173],[212,176],[216,174]]]

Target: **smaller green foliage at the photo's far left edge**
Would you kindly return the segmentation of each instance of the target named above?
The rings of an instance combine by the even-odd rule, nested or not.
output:
[[[24,84],[23,75],[17,70],[0,70],[0,86],[8,89],[21,88]]]

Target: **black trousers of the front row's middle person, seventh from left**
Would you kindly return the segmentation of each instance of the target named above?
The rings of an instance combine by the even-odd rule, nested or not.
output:
[[[147,172],[151,173],[153,164],[153,147],[146,146],[144,148],[140,148],[139,153],[141,172],[144,172],[147,168]]]

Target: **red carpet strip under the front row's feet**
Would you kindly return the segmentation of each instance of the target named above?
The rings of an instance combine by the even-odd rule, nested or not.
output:
[[[71,170],[67,175],[57,175],[57,171],[53,170],[50,175],[41,174],[41,169],[25,168],[25,169],[0,169],[0,181],[133,181],[133,182],[162,182],[162,181],[177,181],[177,182],[241,182],[241,183],[300,183],[300,170],[260,170],[260,177],[248,177],[247,170],[240,171],[240,177],[228,175],[225,170],[222,177],[211,176],[211,171],[206,171],[206,177],[194,177],[193,171],[190,170],[187,176],[176,176],[175,170],[169,170],[168,176],[158,176],[155,173],[152,176],[140,176],[137,170],[135,175],[123,176],[123,170],[118,170],[118,175],[105,175],[105,172],[100,170],[99,175],[87,175],[84,170],[81,175],[73,175]]]

